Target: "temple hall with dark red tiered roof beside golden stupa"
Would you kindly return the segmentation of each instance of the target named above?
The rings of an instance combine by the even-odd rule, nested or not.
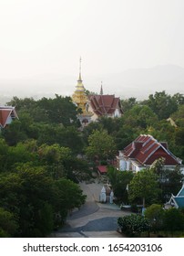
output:
[[[115,95],[89,95],[88,96],[88,111],[93,112],[92,121],[97,121],[101,116],[106,117],[121,117],[122,108],[120,99]]]

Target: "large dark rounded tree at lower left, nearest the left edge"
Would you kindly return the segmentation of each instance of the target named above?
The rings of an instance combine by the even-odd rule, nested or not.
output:
[[[53,221],[52,209],[55,202],[53,180],[47,176],[43,167],[19,164],[15,173],[0,178],[0,207],[12,213],[17,219],[18,229],[15,236],[45,236]],[[46,206],[45,208],[44,206]],[[41,216],[50,208],[50,214],[43,229]],[[48,225],[48,226],[46,226]],[[39,232],[38,232],[39,230]]]

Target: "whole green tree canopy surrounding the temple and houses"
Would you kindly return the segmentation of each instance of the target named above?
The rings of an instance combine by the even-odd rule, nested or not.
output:
[[[0,208],[7,212],[9,227],[16,227],[14,231],[0,225],[0,236],[44,236],[64,223],[70,207],[62,186],[72,195],[71,180],[78,183],[90,176],[86,158],[77,155],[107,161],[140,133],[149,133],[168,142],[169,150],[184,161],[184,97],[180,93],[171,96],[157,91],[147,101],[122,100],[121,118],[102,117],[83,131],[78,130],[77,108],[69,97],[55,95],[38,101],[14,97],[7,104],[15,106],[19,120],[0,133]],[[141,171],[136,175],[139,180],[132,179],[131,172],[115,169],[108,175],[119,200],[137,204],[145,198],[148,205],[176,195],[183,179],[179,168],[173,172],[157,168],[155,173],[157,178]],[[62,181],[61,186],[61,179],[68,182]],[[83,203],[80,193],[79,198]]]

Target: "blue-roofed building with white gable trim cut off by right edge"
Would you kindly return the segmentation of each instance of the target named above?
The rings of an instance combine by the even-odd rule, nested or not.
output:
[[[184,184],[176,197],[171,195],[169,202],[165,204],[165,208],[184,208]]]

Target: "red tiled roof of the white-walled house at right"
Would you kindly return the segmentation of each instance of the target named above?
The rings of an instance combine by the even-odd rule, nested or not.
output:
[[[165,165],[179,165],[181,161],[173,155],[167,143],[159,143],[153,136],[141,134],[123,150],[123,155],[137,160],[142,165],[152,165],[160,157],[165,158]]]

